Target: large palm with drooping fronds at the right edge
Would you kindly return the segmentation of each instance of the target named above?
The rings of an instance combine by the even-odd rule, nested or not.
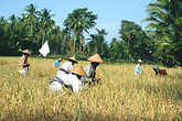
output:
[[[149,35],[156,36],[161,50],[182,62],[182,2],[181,0],[157,0],[148,4]]]

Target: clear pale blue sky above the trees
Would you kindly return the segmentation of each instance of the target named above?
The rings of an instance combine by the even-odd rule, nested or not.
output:
[[[108,33],[106,41],[110,42],[111,38],[119,38],[119,29],[122,20],[136,22],[142,29],[147,23],[141,22],[148,16],[146,6],[152,0],[0,0],[0,16],[7,20],[10,15],[21,16],[25,13],[26,6],[33,3],[36,11],[43,9],[51,10],[51,14],[55,14],[52,19],[55,24],[64,29],[63,21],[75,9],[87,8],[97,14],[96,29]],[[96,34],[95,29],[89,30],[89,34]],[[89,37],[85,34],[85,37]]]

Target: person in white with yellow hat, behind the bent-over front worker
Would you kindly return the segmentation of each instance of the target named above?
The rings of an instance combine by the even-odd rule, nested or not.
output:
[[[69,74],[73,69],[73,65],[78,63],[74,56],[69,57],[67,61],[68,62],[63,63],[62,66],[58,68],[56,76]]]

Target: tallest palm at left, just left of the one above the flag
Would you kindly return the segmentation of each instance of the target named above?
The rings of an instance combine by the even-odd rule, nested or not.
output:
[[[31,31],[33,29],[33,24],[35,24],[35,20],[36,20],[36,15],[39,14],[39,11],[35,10],[36,7],[34,7],[32,3],[30,6],[26,6],[24,11],[26,11],[28,13],[25,13],[28,22],[31,22]]]

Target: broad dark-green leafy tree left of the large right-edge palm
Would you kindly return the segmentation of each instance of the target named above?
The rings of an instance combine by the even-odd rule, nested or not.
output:
[[[129,59],[150,58],[150,51],[153,48],[152,42],[147,37],[141,26],[130,21],[121,21],[119,34],[127,47]]]

